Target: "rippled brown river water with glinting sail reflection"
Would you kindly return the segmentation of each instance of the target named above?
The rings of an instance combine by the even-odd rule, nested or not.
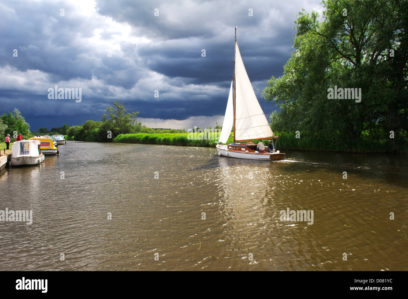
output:
[[[0,176],[0,210],[33,210],[0,222],[0,270],[408,270],[407,158],[286,154],[69,142]]]

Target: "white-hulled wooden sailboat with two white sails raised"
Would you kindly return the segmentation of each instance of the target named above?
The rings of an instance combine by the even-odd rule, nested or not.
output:
[[[221,143],[226,143],[233,129],[233,143],[217,144],[219,156],[251,160],[282,160],[285,154],[275,149],[274,140],[278,137],[273,134],[268,120],[262,111],[255,96],[251,81],[246,73],[244,62],[237,44],[237,27],[235,27],[235,62],[234,78],[231,81],[227,108],[220,138]],[[234,91],[233,91],[234,86]],[[258,151],[257,145],[252,142],[238,143],[258,139],[271,139],[272,152]]]

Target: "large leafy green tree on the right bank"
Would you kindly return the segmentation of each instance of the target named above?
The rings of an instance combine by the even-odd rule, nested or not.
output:
[[[299,13],[292,57],[262,96],[280,111],[277,132],[302,132],[338,146],[344,139],[398,147],[408,128],[408,1],[328,0],[322,18]],[[361,102],[329,99],[329,88],[361,88]]]

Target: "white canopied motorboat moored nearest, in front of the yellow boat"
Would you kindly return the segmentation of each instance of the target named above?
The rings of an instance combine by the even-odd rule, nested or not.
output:
[[[38,140],[21,140],[14,142],[11,146],[11,165],[40,165],[45,158],[40,150],[40,144],[41,141]]]

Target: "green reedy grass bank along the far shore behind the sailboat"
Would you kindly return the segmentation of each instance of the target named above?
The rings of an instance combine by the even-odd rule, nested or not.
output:
[[[166,144],[166,145],[184,145],[184,146],[200,146],[200,147],[215,147],[217,140],[200,140],[189,139],[191,133],[166,133],[166,134],[120,134],[113,142],[118,143],[142,143],[142,144]],[[392,153],[392,145],[389,140],[371,141],[361,140],[359,142],[348,141],[347,139],[340,145],[333,145],[326,138],[295,138],[295,133],[279,133],[277,134],[276,148],[280,151],[284,150],[302,150],[302,151],[322,151],[322,152],[351,152],[351,153]],[[218,134],[215,133],[218,139]],[[259,140],[252,140],[253,143],[258,143]],[[232,143],[232,136],[227,143]],[[394,150],[394,153],[407,154],[408,144]]]

